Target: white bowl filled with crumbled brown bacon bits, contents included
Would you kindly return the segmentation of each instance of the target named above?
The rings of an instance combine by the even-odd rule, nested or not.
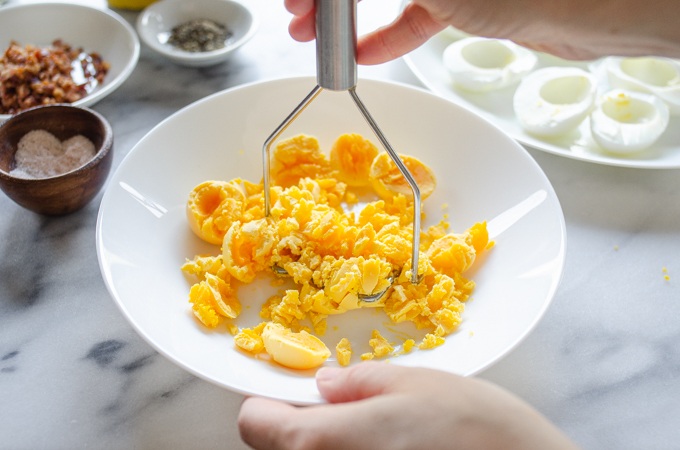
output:
[[[139,40],[118,14],[67,3],[0,9],[0,123],[29,108],[91,106],[134,70]]]

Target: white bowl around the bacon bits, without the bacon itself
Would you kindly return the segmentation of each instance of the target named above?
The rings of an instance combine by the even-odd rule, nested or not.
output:
[[[104,82],[88,96],[72,103],[92,106],[112,93],[130,76],[139,59],[139,40],[135,30],[110,10],[68,3],[30,3],[0,9],[0,47],[10,41],[38,46],[61,39],[84,51],[99,53],[111,69]],[[0,122],[10,116],[0,115]]]

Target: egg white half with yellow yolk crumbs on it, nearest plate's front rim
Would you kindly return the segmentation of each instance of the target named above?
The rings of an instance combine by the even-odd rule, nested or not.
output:
[[[658,97],[615,89],[598,101],[590,116],[590,130],[602,148],[633,153],[659,139],[668,126],[668,116],[668,107]]]

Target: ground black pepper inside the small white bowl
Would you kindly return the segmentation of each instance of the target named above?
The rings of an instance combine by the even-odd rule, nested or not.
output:
[[[224,25],[208,19],[196,19],[172,29],[168,43],[187,52],[209,52],[225,46],[231,33]]]

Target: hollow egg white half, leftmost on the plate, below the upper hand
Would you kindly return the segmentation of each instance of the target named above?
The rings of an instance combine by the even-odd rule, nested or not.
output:
[[[536,65],[536,55],[504,39],[470,37],[446,47],[443,63],[453,82],[470,92],[513,85]]]

